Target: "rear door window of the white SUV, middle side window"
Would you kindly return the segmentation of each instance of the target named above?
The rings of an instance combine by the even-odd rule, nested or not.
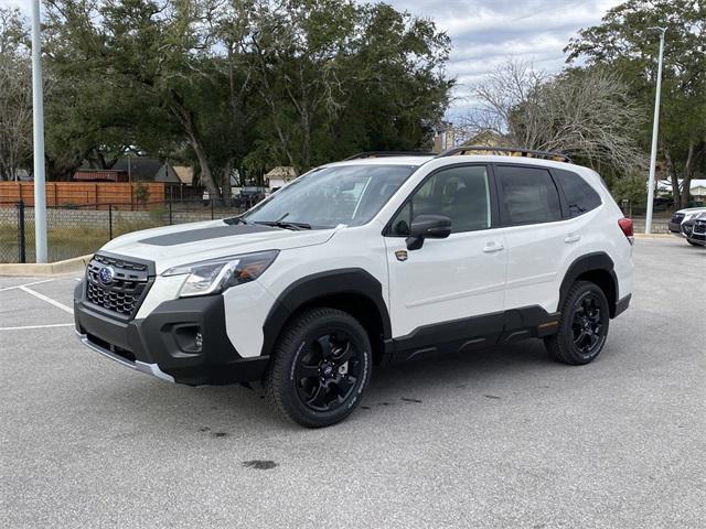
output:
[[[503,190],[509,224],[561,220],[559,193],[546,169],[498,165],[495,175]]]

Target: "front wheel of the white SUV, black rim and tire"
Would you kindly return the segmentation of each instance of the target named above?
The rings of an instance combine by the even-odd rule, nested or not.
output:
[[[335,309],[309,309],[277,341],[265,393],[290,421],[329,427],[360,404],[372,360],[367,333],[357,320]]]

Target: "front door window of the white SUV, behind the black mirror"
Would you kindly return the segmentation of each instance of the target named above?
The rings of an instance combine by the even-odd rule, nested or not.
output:
[[[419,215],[443,215],[451,230],[473,231],[491,226],[490,184],[484,165],[445,169],[428,179],[397,213],[392,235],[409,235],[411,220]]]

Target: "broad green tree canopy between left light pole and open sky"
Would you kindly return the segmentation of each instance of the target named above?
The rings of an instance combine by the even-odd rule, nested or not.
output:
[[[215,197],[244,165],[303,171],[361,149],[422,147],[452,86],[448,37],[382,3],[45,2],[58,176],[137,149],[192,160]]]

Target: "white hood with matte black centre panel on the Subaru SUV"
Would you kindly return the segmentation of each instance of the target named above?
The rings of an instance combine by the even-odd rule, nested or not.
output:
[[[271,226],[207,220],[122,235],[99,251],[116,253],[126,259],[135,257],[153,261],[159,274],[175,266],[238,253],[321,245],[329,240],[334,231],[293,231]]]

